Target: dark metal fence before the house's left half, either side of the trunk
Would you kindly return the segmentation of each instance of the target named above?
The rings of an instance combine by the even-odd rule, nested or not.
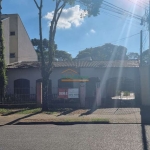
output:
[[[5,94],[4,94],[5,93]],[[30,94],[35,93],[35,94]],[[79,106],[79,99],[58,98],[58,88],[52,87],[52,93],[48,94],[49,107],[76,107]],[[15,88],[0,89],[0,105],[5,104],[36,104],[36,88]]]

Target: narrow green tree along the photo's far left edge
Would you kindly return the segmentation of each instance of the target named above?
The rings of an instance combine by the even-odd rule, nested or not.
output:
[[[1,1],[0,1],[0,95],[2,98],[5,94],[5,87],[7,83],[6,77],[6,66],[4,57],[4,41],[3,41],[3,30],[1,21]]]

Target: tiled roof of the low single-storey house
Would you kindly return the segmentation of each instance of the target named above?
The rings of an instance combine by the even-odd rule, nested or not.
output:
[[[105,67],[139,67],[137,60],[125,61],[57,61],[53,62],[54,67],[76,67],[76,68],[105,68]],[[11,63],[7,68],[38,68],[40,63],[36,61],[24,61]]]

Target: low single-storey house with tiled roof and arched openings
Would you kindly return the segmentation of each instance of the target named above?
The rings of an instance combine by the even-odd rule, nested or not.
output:
[[[136,98],[140,97],[138,61],[57,61],[53,64],[54,69],[49,78],[50,95],[59,96],[59,89],[80,90],[84,86],[84,99],[92,99],[96,92],[99,92],[99,99],[110,98],[119,90],[130,91],[135,93]],[[25,94],[37,93],[37,85],[41,82],[39,62],[16,62],[9,64],[7,70],[8,93],[19,94],[17,89]],[[100,91],[97,91],[97,85]],[[82,93],[83,91],[79,94]]]

